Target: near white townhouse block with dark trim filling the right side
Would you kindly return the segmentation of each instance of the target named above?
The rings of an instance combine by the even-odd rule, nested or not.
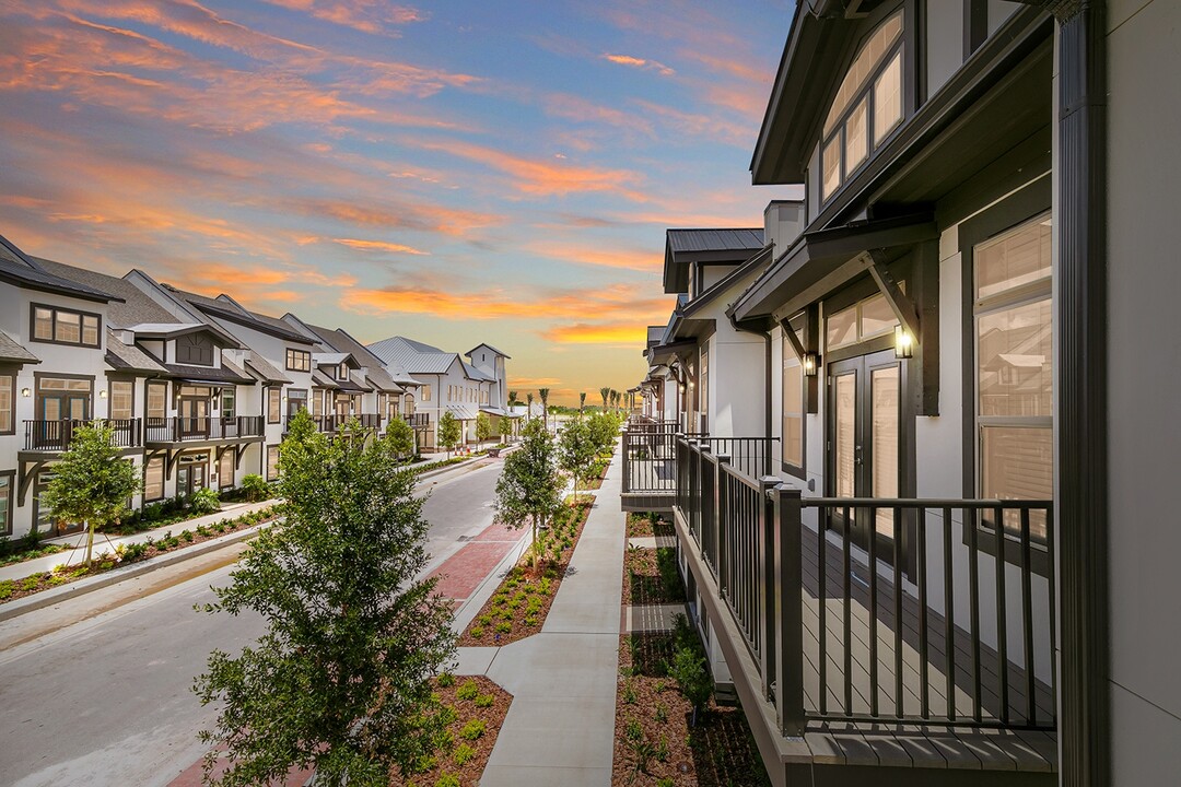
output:
[[[774,783],[1176,773],[1179,427],[1133,365],[1181,336],[1155,262],[1179,165],[1138,131],[1176,130],[1149,85],[1179,25],[1161,0],[797,4],[751,172],[803,201],[712,289],[666,255],[681,297],[624,452]]]

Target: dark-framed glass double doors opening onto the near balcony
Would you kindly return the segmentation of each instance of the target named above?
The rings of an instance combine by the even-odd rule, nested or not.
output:
[[[829,493],[837,498],[898,498],[905,437],[901,361],[893,350],[850,358],[830,363],[828,376]],[[882,547],[877,555],[893,559],[893,510],[873,514],[869,509],[853,509],[849,522],[837,512],[833,524],[863,547],[870,537],[876,538]]]

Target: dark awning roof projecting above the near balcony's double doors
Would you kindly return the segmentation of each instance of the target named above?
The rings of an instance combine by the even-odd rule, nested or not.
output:
[[[726,311],[742,322],[794,313],[873,267],[870,249],[896,249],[939,237],[931,214],[805,232]]]

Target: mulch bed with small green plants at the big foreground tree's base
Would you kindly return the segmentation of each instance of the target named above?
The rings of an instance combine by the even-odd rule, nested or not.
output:
[[[442,676],[435,678],[435,694],[443,708],[455,709],[455,720],[448,724],[435,755],[422,761],[418,772],[409,779],[394,773],[390,779],[391,787],[429,787],[446,775],[456,779],[451,785],[475,787],[484,774],[513,695],[483,675],[452,677],[454,682],[449,686],[443,686],[441,678],[442,683],[448,683],[448,678]]]

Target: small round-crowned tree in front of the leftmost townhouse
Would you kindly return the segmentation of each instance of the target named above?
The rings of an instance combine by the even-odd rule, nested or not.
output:
[[[115,429],[103,421],[74,428],[70,447],[53,465],[53,479],[41,498],[56,519],[86,525],[86,560],[94,550],[94,529],[123,518],[128,498],[139,491],[136,466],[119,457]]]

